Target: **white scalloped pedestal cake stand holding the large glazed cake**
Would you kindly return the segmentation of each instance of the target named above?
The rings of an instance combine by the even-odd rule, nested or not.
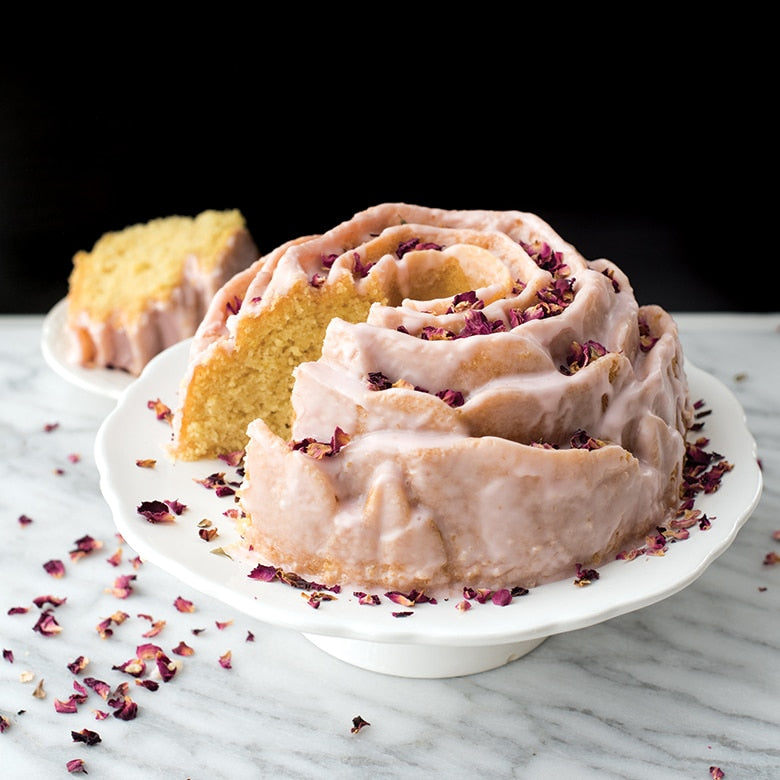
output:
[[[98,432],[101,490],[118,530],[142,558],[191,587],[261,621],[299,631],[331,655],[374,671],[406,677],[471,674],[515,660],[550,635],[664,599],[692,583],[728,548],[761,494],[756,444],[739,402],[717,379],[688,365],[692,397],[712,410],[704,418],[708,450],[734,464],[718,492],[697,500],[697,507],[715,518],[709,530],[693,529],[689,539],[670,545],[663,557],[610,562],[588,587],[575,587],[572,577],[532,589],[505,607],[475,604],[461,612],[455,608],[459,599],[452,599],[418,605],[411,617],[401,618],[391,613],[403,608],[388,599],[367,606],[347,591],[314,609],[305,592],[247,576],[256,561],[242,555],[232,521],[223,514],[234,506],[233,499],[218,497],[195,481],[215,472],[238,479],[235,469],[221,460],[186,463],[166,456],[171,428],[148,402],[160,399],[174,407],[188,348],[189,340],[152,360]],[[136,465],[146,458],[156,459],[156,467]],[[137,512],[142,501],[174,499],[187,506],[174,523],[149,523]],[[219,531],[208,542],[198,535],[204,518]],[[215,548],[233,557],[214,554]]]

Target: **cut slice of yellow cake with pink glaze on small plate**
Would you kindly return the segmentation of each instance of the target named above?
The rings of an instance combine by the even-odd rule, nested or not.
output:
[[[139,374],[194,335],[225,282],[259,257],[240,211],[165,217],[104,234],[68,281],[68,360]]]

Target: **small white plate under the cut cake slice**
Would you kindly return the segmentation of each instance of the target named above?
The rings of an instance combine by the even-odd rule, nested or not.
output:
[[[44,360],[63,379],[82,388],[109,398],[119,398],[122,391],[135,379],[127,371],[111,368],[83,368],[68,362],[68,341],[65,323],[68,318],[68,302],[63,298],[52,307],[43,320],[41,350]]]

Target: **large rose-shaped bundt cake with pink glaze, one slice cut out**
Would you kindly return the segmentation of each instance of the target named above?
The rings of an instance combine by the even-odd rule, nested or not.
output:
[[[533,214],[383,204],[217,295],[173,451],[245,449],[246,545],[361,588],[535,586],[679,504],[672,318]]]

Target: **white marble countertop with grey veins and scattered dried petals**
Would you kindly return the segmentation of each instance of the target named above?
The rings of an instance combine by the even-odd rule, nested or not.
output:
[[[676,319],[687,357],[731,389],[758,444],[763,495],[736,541],[659,603],[491,671],[414,679],[347,664],[135,563],[93,455],[114,401],[46,365],[42,317],[0,318],[0,777],[66,776],[79,758],[89,777],[123,780],[780,777],[780,562],[767,562],[780,555],[780,315]],[[71,554],[89,539],[102,546]],[[127,619],[102,636],[117,611]],[[115,668],[144,642],[194,654],[172,654],[176,676],[153,691]],[[127,682],[136,717],[80,688],[90,677]],[[356,717],[370,725],[353,731]]]

